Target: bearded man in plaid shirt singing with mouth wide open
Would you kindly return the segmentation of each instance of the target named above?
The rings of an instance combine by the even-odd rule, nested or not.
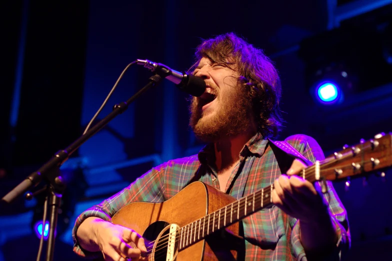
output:
[[[348,222],[331,184],[321,193],[318,183],[294,175],[305,166],[301,157],[289,161],[281,174],[281,156],[266,139],[281,126],[280,82],[270,60],[233,33],[205,40],[195,55],[192,71],[205,81],[206,90],[192,99],[190,126],[208,144],[197,155],[151,169],[83,212],[73,229],[74,251],[102,252],[105,260],[137,260],[146,252],[143,238],[112,224],[111,216],[129,202],[161,202],[200,180],[235,198],[273,183],[274,205],[241,222],[245,260],[338,259],[348,248]],[[294,135],[286,142],[313,162],[323,159],[311,137]]]

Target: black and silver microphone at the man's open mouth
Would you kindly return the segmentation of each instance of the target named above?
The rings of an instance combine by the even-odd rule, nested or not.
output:
[[[205,91],[204,80],[188,72],[179,72],[170,69],[170,67],[162,63],[156,63],[150,60],[137,59],[137,64],[143,65],[150,71],[154,71],[161,77],[174,82],[180,90],[183,90],[192,96],[198,97]]]

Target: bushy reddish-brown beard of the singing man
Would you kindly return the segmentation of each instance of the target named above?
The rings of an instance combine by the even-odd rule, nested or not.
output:
[[[242,86],[230,87],[217,93],[215,111],[203,115],[205,104],[193,97],[189,105],[189,125],[195,136],[203,142],[215,142],[224,137],[235,136],[249,129],[251,124],[251,98]]]

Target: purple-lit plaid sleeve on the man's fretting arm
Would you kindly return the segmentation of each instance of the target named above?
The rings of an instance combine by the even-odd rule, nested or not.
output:
[[[286,142],[290,143],[295,147],[300,153],[302,153],[307,159],[314,162],[315,160],[323,160],[324,154],[318,143],[309,136],[306,135],[294,135],[286,139]],[[319,183],[315,183],[316,189],[320,189]],[[336,233],[338,235],[338,240],[334,251],[331,252],[330,256],[325,256],[325,260],[332,260],[330,258],[338,255],[339,259],[345,255],[350,245],[350,233],[348,227],[347,212],[341,203],[339,197],[334,190],[332,183],[326,181],[326,193],[323,193],[325,201],[328,203],[328,210],[332,217],[333,223],[336,226]],[[295,218],[292,219],[293,224],[291,233],[291,244],[294,256],[297,260],[306,261],[305,251],[299,239],[299,223]],[[333,259],[335,260],[335,259]]]

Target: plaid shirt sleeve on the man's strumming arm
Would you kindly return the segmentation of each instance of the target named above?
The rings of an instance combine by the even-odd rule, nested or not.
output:
[[[102,218],[111,222],[111,217],[123,206],[130,202],[161,202],[164,201],[164,172],[167,163],[152,168],[129,186],[113,196],[103,200],[82,212],[75,221],[72,229],[73,251],[80,256],[95,258],[102,256],[101,252],[89,252],[80,247],[76,232],[79,225],[89,216]]]

